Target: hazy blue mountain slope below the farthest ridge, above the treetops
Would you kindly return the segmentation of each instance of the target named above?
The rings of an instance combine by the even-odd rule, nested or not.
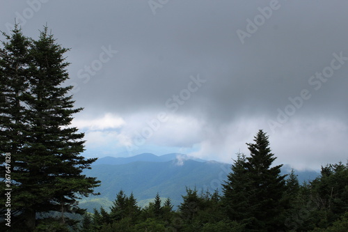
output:
[[[182,164],[182,165],[180,165]],[[169,162],[132,162],[129,164],[100,164],[84,171],[87,176],[102,180],[95,190],[106,199],[115,199],[119,190],[134,193],[137,199],[153,198],[157,192],[163,197],[181,199],[185,186],[200,189],[216,178],[230,164],[196,162],[193,160]],[[223,175],[226,179],[226,175]]]

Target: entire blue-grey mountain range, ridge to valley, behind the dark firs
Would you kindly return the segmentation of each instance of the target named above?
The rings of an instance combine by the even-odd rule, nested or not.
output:
[[[97,160],[92,169],[84,171],[86,176],[102,180],[95,189],[99,196],[80,201],[81,208],[93,212],[93,208],[103,206],[109,210],[111,201],[123,190],[128,196],[133,192],[140,206],[153,199],[157,192],[161,197],[171,198],[177,206],[186,194],[186,187],[197,190],[221,191],[221,184],[230,172],[230,165],[216,161],[200,160],[188,155],[171,153],[157,156],[143,153],[132,157],[103,157]],[[290,173],[289,165],[284,165],[283,173]],[[315,171],[296,171],[300,183],[312,180],[319,173]]]

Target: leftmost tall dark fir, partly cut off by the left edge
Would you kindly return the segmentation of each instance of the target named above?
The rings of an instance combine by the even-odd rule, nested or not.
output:
[[[6,189],[12,189],[17,193],[18,188],[13,180],[17,181],[22,176],[14,170],[21,168],[21,160],[28,155],[23,150],[27,126],[24,119],[25,107],[22,102],[25,100],[25,93],[29,87],[27,66],[30,62],[29,48],[31,45],[29,39],[23,36],[17,26],[10,36],[5,33],[3,36],[7,42],[2,42],[3,47],[0,49],[0,178],[6,180],[8,177],[6,174],[8,174],[10,180],[0,182],[1,196],[4,196]],[[8,160],[6,160],[6,153],[9,155]],[[5,206],[5,199],[5,197],[0,198],[1,206]],[[25,199],[19,194],[12,194],[11,200],[11,214],[13,215],[11,227],[15,228],[16,225],[22,224],[15,218],[15,215],[23,210],[23,207],[16,202]],[[26,203],[30,202],[29,197]],[[5,210],[0,209],[1,215]],[[35,219],[27,223],[33,225]]]

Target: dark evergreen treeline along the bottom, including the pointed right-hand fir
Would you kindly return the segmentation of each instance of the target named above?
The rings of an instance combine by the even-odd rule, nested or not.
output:
[[[294,171],[281,175],[262,130],[250,156],[237,154],[223,194],[187,187],[173,210],[157,194],[144,208],[131,194],[118,192],[111,212],[86,214],[80,231],[347,231],[348,164],[329,164],[310,183]],[[86,223],[88,222],[88,223]]]

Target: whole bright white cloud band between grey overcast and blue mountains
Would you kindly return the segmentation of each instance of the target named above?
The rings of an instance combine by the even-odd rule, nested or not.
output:
[[[321,165],[347,161],[348,127],[333,118],[294,116],[276,132],[271,132],[265,116],[211,123],[189,115],[167,114],[166,121],[155,123],[157,114],[137,113],[122,118],[106,114],[91,120],[77,119],[74,125],[87,129],[87,149],[107,150],[110,154],[120,150],[129,152],[130,147],[132,155],[153,152],[154,148],[157,151],[171,148],[171,152],[232,163],[239,151],[249,155],[246,143],[253,143],[255,134],[263,129],[269,135],[276,164],[319,169]]]

